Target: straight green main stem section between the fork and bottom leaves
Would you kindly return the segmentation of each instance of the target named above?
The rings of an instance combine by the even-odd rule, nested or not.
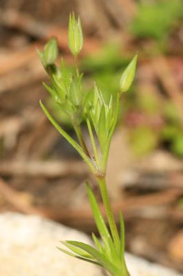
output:
[[[105,211],[106,211],[107,219],[108,219],[108,222],[109,222],[109,227],[111,229],[111,235],[114,239],[114,244],[116,246],[116,250],[117,250],[117,252],[119,252],[120,251],[120,237],[119,237],[119,234],[118,234],[118,229],[116,227],[114,214],[111,210],[111,204],[110,204],[110,201],[109,201],[109,195],[107,193],[107,186],[106,186],[105,177],[97,178],[97,179],[98,179],[98,184],[100,186],[100,193],[101,193],[102,198],[103,198],[103,204],[105,206]]]

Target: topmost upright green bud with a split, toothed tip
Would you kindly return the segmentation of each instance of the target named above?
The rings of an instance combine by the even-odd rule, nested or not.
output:
[[[68,44],[72,55],[77,56],[83,47],[83,32],[80,18],[75,19],[74,12],[69,16]]]

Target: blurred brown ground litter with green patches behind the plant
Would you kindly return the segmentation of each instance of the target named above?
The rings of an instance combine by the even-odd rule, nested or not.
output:
[[[96,231],[84,186],[94,180],[39,107],[43,99],[75,138],[42,86],[47,77],[36,55],[56,36],[72,66],[72,10],[85,33],[80,70],[86,90],[95,79],[107,101],[139,53],[111,144],[109,193],[116,221],[119,210],[125,217],[127,250],[183,272],[182,0],[0,0],[0,212]]]

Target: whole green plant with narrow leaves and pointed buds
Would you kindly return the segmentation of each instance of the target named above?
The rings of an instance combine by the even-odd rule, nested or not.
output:
[[[56,123],[41,101],[40,104],[47,118],[51,121],[58,132],[67,139],[69,144],[77,150],[87,166],[89,166],[96,181],[98,181],[109,228],[105,224],[105,220],[100,213],[92,188],[87,184],[89,202],[92,207],[94,219],[102,242],[92,234],[96,248],[83,244],[82,242],[65,241],[62,242],[62,244],[68,248],[69,251],[63,248],[59,249],[78,259],[83,259],[87,262],[103,266],[103,268],[105,268],[112,276],[127,276],[129,275],[129,272],[124,257],[124,222],[122,214],[120,213],[119,235],[114,214],[111,210],[109,195],[107,193],[105,175],[111,138],[118,121],[120,96],[122,95],[122,92],[127,91],[129,86],[131,86],[136,71],[137,55],[133,57],[125,72],[122,74],[120,80],[120,92],[118,92],[115,99],[111,95],[110,100],[107,103],[103,98],[103,93],[96,83],[94,83],[94,87],[89,92],[83,90],[83,74],[80,74],[78,70],[77,58],[78,53],[83,46],[83,33],[80,19],[78,18],[78,20],[76,20],[74,13],[69,17],[68,38],[69,49],[71,50],[72,55],[74,55],[75,60],[74,72],[70,72],[65,67],[63,60],[61,61],[60,68],[55,65],[55,61],[58,57],[56,39],[48,41],[45,49],[42,52],[38,51],[38,54],[51,82],[50,86],[45,83],[44,86],[47,91],[50,92],[50,95],[54,101],[56,101],[61,110],[63,110],[65,115],[67,115],[70,124],[72,124],[76,132],[78,142],[72,139],[72,137],[70,137],[67,132]],[[85,118],[89,131],[89,137],[93,148],[92,154],[90,154],[87,145],[85,144],[85,140],[83,139],[81,128],[83,118]],[[94,132],[96,132],[96,136],[94,135]]]

